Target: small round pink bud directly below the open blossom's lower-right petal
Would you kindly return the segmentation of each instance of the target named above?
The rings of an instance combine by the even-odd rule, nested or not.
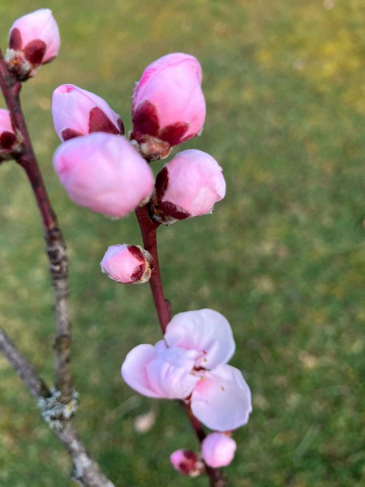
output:
[[[202,442],[204,462],[213,468],[229,465],[237,445],[235,440],[223,433],[210,433]]]

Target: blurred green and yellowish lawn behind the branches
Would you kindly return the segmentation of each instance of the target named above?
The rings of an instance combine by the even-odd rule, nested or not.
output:
[[[2,0],[12,21],[46,6]],[[168,456],[196,442],[177,404],[133,394],[126,353],[160,334],[148,286],[118,286],[99,269],[107,246],[140,243],[133,216],[109,221],[71,203],[51,167],[53,89],[95,91],[130,129],[134,81],[171,51],[203,66],[207,121],[185,145],[224,167],[213,216],[159,232],[174,311],[212,307],[230,321],[232,364],[254,412],[227,469],[235,487],[365,484],[364,0],[50,0],[62,50],[24,86],[34,147],[70,254],[77,424],[117,487],[205,486]],[[155,167],[161,164],[155,163]],[[42,230],[25,177],[0,167],[0,322],[49,380],[54,324]],[[361,302],[362,301],[362,302]],[[362,307],[361,307],[362,304]],[[137,415],[157,422],[137,433]],[[0,485],[69,485],[68,456],[0,358]]]

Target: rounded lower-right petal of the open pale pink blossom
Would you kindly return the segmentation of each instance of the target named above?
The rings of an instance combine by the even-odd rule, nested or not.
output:
[[[226,364],[204,373],[193,391],[191,408],[212,430],[230,431],[245,425],[252,406],[242,373]]]

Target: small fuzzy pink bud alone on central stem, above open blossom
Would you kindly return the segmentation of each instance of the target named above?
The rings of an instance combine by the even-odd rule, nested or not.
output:
[[[139,245],[112,245],[100,262],[101,270],[117,283],[142,284],[150,279],[152,257]]]

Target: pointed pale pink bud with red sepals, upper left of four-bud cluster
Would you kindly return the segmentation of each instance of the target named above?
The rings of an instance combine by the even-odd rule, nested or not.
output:
[[[53,92],[53,123],[61,141],[91,132],[124,134],[123,122],[100,96],[75,85]]]

